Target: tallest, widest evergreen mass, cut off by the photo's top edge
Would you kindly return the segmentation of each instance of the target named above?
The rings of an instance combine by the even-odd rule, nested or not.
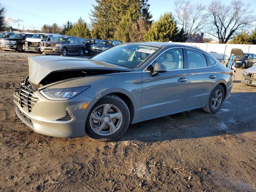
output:
[[[138,18],[143,18],[151,24],[152,15],[149,12],[148,0],[96,0],[90,14],[92,36],[94,38],[113,39],[114,37],[128,36],[128,26]],[[122,22],[121,22],[122,21]],[[121,22],[121,23],[120,23]],[[121,26],[125,34],[120,32]],[[118,29],[119,27],[119,29]],[[127,39],[127,38],[124,38]]]

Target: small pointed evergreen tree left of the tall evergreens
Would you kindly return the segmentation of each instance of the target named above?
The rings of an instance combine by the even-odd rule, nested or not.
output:
[[[87,23],[80,17],[78,19],[78,22],[72,26],[68,32],[66,32],[66,35],[70,36],[77,36],[77,37],[82,37],[82,38],[90,38],[90,31],[88,28]]]

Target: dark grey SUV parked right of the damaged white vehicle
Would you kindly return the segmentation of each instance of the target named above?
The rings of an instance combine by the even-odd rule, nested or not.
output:
[[[84,39],[74,36],[59,36],[51,41],[42,41],[40,50],[43,55],[60,54],[67,56],[68,54],[79,54],[82,56],[85,50]]]

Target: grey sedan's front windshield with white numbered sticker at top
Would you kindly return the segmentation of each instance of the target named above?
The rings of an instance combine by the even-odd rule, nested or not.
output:
[[[135,69],[158,50],[159,48],[151,46],[122,44],[101,52],[100,54],[92,57],[92,59]]]

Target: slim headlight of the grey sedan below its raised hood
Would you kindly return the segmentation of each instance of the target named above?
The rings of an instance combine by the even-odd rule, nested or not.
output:
[[[90,86],[60,88],[60,89],[43,89],[40,93],[50,100],[68,100],[77,96]]]

